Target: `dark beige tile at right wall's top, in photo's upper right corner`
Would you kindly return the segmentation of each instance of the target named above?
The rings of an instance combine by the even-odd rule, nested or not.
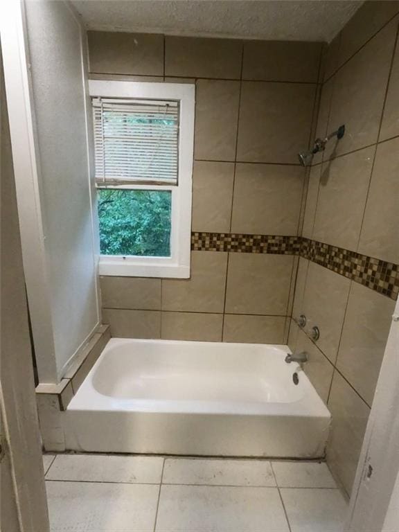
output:
[[[364,2],[342,30],[339,64],[348,60],[398,12],[398,1]]]

